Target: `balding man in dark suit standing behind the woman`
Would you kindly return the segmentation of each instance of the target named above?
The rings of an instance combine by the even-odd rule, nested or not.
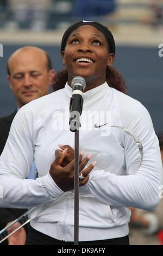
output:
[[[55,71],[48,53],[35,46],[25,46],[10,56],[7,63],[8,81],[13,91],[17,108],[7,117],[0,118],[0,155],[7,141],[10,126],[18,109],[32,100],[49,94],[49,86],[52,84]],[[19,124],[17,124],[19,125]],[[36,178],[36,167],[33,162],[28,179]],[[9,225],[17,217],[20,217],[27,209],[0,208],[0,230]],[[14,231],[20,223],[12,225],[8,230]],[[27,229],[23,227],[8,237],[1,245],[24,245]]]

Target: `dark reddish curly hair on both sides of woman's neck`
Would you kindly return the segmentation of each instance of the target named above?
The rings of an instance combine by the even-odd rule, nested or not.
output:
[[[57,72],[52,83],[54,92],[64,88],[67,81],[68,74],[66,69]],[[127,93],[126,81],[123,79],[123,76],[120,74],[120,72],[112,66],[107,66],[106,68],[106,82],[110,87],[115,88],[122,93]]]

